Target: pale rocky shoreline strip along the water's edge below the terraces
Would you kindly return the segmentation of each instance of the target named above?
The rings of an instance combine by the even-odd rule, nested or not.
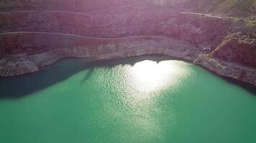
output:
[[[157,42],[157,40],[159,40],[158,38],[159,37],[157,37],[157,39],[152,38],[150,40],[144,40],[142,41],[142,43],[144,43],[143,45],[141,45],[140,42],[135,42],[136,44],[134,44],[132,48],[129,48],[129,44],[132,43],[130,42],[127,44],[129,41],[125,41],[124,44],[127,44],[127,46],[122,48],[118,47],[118,49],[113,49],[113,47],[108,46],[109,44],[106,44],[106,49],[101,48],[94,52],[86,51],[86,49],[91,49],[91,46],[78,46],[66,49],[52,49],[39,54],[24,55],[17,58],[17,61],[14,61],[14,63],[7,66],[3,66],[3,64],[1,65],[0,62],[0,67],[2,66],[0,68],[0,77],[31,74],[39,71],[42,67],[54,64],[60,59],[68,59],[72,57],[87,58],[90,59],[90,62],[93,62],[125,58],[129,56],[161,54],[197,64],[219,76],[229,77],[231,79],[236,79],[240,82],[246,82],[247,84],[256,86],[256,70],[253,68],[249,69],[246,66],[235,65],[234,63],[229,64],[219,59],[209,58],[208,56],[205,56],[205,54],[201,54],[201,51],[198,51],[195,46],[191,44],[183,44],[182,41],[180,42],[164,37],[163,39],[159,38],[160,42]],[[180,45],[182,48],[180,48]],[[160,48],[157,48],[157,46]],[[9,64],[8,60],[6,60],[6,63]],[[243,75],[243,73],[246,74]],[[241,75],[244,76],[243,79],[240,78]]]

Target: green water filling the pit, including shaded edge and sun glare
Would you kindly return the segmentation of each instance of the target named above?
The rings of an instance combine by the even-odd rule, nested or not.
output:
[[[2,143],[256,142],[256,96],[183,61],[66,59],[0,89]]]

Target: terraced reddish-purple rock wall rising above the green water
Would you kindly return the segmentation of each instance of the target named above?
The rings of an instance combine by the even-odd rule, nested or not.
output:
[[[166,54],[256,85],[255,1],[0,1],[0,75],[65,57]]]

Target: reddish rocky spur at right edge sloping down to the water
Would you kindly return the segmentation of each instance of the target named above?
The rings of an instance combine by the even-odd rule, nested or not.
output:
[[[198,56],[196,64],[225,77],[256,84],[256,39],[230,34],[210,54]]]

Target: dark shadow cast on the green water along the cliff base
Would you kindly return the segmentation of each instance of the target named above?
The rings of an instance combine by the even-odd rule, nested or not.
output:
[[[79,71],[88,70],[85,77],[81,79],[81,82],[83,83],[86,82],[89,77],[91,77],[94,68],[99,66],[111,68],[119,64],[134,65],[135,63],[144,60],[160,62],[168,59],[176,58],[163,55],[148,55],[93,62],[89,62],[90,59],[83,58],[63,59],[56,62],[55,64],[52,64],[51,66],[42,68],[40,71],[37,71],[33,74],[25,74],[19,77],[0,77],[0,99],[24,97],[28,94],[32,94],[34,92],[50,87],[58,82],[62,82],[73,74],[78,73]],[[234,79],[224,79],[232,82],[233,84],[237,84],[240,87],[247,89],[248,92],[256,95],[256,88],[254,86],[237,82]]]

